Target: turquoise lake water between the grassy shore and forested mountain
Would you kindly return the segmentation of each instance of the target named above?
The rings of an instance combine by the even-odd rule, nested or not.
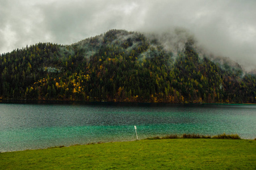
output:
[[[255,105],[0,104],[0,152],[156,135],[256,138]]]

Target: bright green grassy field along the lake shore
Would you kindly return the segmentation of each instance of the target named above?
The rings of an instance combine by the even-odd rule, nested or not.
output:
[[[161,139],[0,153],[0,169],[256,169],[256,141]]]

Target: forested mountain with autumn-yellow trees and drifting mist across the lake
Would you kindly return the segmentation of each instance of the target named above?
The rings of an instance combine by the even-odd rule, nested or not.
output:
[[[157,36],[113,29],[16,49],[0,56],[0,99],[256,103],[255,75],[180,42],[168,49]]]

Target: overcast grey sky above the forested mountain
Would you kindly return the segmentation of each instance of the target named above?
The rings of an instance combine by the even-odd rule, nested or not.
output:
[[[109,29],[183,27],[216,55],[256,68],[255,0],[0,0],[0,53],[37,42],[72,44]]]

